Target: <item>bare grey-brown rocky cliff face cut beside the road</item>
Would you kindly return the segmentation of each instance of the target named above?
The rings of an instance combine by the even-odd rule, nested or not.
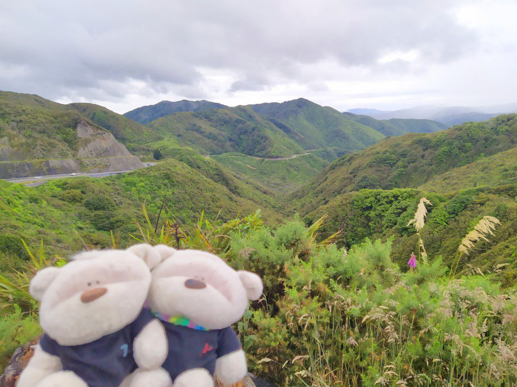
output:
[[[16,160],[9,138],[0,138],[0,179],[17,179],[37,175],[72,172],[114,172],[143,168],[136,156],[110,133],[80,121],[75,128],[77,143],[71,149],[72,158]]]

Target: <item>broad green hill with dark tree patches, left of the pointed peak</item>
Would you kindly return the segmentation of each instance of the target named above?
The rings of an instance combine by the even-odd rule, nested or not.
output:
[[[179,112],[148,126],[205,154],[237,151],[271,157],[303,151],[277,126],[247,107]]]

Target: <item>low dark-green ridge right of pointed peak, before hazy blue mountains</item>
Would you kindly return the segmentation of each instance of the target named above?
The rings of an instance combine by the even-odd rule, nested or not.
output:
[[[406,133],[432,133],[446,130],[449,126],[432,120],[392,118],[389,120],[377,120],[370,116],[360,116],[351,112],[343,114],[356,122],[373,127],[385,136],[400,136]]]

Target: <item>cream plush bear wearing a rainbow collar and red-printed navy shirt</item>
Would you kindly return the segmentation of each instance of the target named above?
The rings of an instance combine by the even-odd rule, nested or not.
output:
[[[168,338],[163,368],[174,387],[212,387],[214,375],[224,384],[237,383],[247,366],[231,325],[249,300],[262,295],[262,280],[208,252],[168,251],[171,256],[153,270],[148,296],[148,307],[162,320]]]

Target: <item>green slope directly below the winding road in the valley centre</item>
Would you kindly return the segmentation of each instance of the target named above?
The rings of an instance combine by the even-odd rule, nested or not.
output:
[[[242,153],[223,153],[212,158],[233,173],[282,196],[309,182],[328,164],[312,154],[285,160],[267,160]]]

